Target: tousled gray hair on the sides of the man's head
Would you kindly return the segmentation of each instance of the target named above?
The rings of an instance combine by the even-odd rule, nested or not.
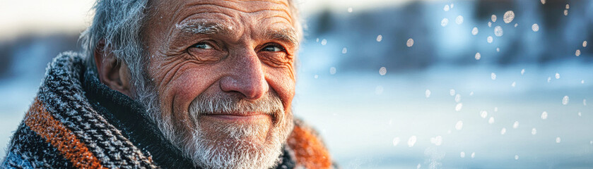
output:
[[[294,0],[288,0],[288,6],[300,41],[303,28],[298,8]],[[148,0],[98,0],[93,8],[93,23],[79,37],[87,67],[97,70],[95,50],[110,52],[117,61],[123,61],[128,66],[134,87],[141,87],[139,85],[142,84],[137,81],[143,78],[148,64],[141,38],[142,26],[148,20]],[[103,45],[98,46],[101,42]]]

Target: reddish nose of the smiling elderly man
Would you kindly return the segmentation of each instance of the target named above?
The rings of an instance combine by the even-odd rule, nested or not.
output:
[[[245,50],[233,57],[230,75],[221,79],[221,89],[224,92],[239,92],[245,99],[257,100],[268,92],[262,62],[255,51]]]

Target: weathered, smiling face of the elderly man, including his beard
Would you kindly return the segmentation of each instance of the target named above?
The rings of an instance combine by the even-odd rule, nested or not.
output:
[[[295,91],[298,39],[288,2],[186,0],[150,6],[143,42],[151,57],[157,119],[167,125],[161,130],[172,127],[169,137],[190,158],[211,158],[194,159],[199,165],[270,153],[264,149],[274,149],[263,155],[277,158],[292,127]]]

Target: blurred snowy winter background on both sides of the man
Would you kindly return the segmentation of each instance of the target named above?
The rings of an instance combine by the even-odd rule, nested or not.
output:
[[[0,158],[45,65],[80,49],[92,2],[57,3],[0,6]],[[295,115],[342,168],[593,168],[593,1],[300,6]]]

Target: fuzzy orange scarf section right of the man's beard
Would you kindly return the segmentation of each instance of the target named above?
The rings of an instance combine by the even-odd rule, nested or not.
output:
[[[293,149],[297,166],[305,168],[330,168],[331,158],[323,142],[307,127],[295,125],[288,137],[288,146]]]

